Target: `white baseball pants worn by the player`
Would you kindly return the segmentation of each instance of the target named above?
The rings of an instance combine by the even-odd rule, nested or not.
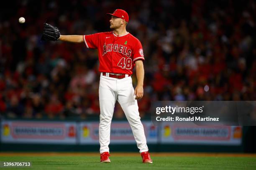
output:
[[[108,75],[108,73],[107,73]],[[133,95],[131,77],[117,79],[100,75],[100,153],[109,152],[110,124],[113,117],[115,102],[118,100],[133,131],[140,153],[147,152],[146,136],[138,112],[138,103]]]

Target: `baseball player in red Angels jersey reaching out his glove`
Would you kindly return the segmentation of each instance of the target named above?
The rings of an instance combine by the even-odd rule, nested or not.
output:
[[[109,148],[110,124],[115,102],[118,100],[133,131],[142,162],[152,163],[143,125],[138,112],[137,99],[143,97],[143,49],[141,42],[126,31],[128,13],[117,9],[111,15],[111,32],[92,35],[60,35],[59,29],[44,23],[42,40],[84,42],[87,48],[98,50],[100,61],[100,162],[110,163]],[[136,68],[137,87],[133,89],[131,75]]]

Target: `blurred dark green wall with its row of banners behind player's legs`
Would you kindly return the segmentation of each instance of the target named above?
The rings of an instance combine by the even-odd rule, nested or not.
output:
[[[142,120],[147,143],[154,151],[243,152],[243,127],[198,126]],[[1,147],[6,150],[98,151],[98,121],[1,120]],[[111,124],[111,146],[136,151],[127,121]],[[34,146],[34,147],[33,147]],[[217,148],[216,148],[217,147]],[[33,149],[34,148],[34,149]],[[52,148],[52,149],[51,149]],[[206,149],[207,148],[207,149]],[[214,149],[215,148],[215,149]],[[219,149],[218,149],[219,148]]]

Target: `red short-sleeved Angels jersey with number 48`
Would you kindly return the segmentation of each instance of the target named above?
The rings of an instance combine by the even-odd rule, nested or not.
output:
[[[100,72],[133,74],[136,60],[144,60],[141,42],[127,32],[115,35],[112,32],[100,32],[84,35],[87,48],[97,48],[100,60]]]

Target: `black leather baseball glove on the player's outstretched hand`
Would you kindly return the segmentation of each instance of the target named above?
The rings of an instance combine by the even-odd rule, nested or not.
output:
[[[41,37],[41,40],[44,41],[56,41],[59,40],[60,37],[60,32],[57,27],[54,27],[50,24],[44,23],[44,32]]]

